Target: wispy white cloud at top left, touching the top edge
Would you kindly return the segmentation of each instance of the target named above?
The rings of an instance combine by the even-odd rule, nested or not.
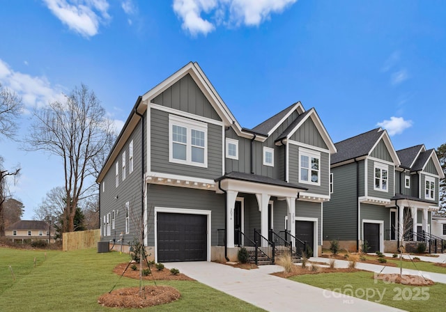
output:
[[[63,24],[85,37],[95,36],[101,22],[109,20],[106,0],[43,0]]]

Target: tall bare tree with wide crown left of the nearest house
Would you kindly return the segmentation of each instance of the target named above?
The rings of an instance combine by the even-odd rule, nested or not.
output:
[[[63,232],[74,231],[79,201],[97,191],[93,182],[98,175],[97,164],[108,155],[114,137],[112,120],[106,117],[95,93],[84,84],[74,88],[66,102],[34,109],[24,150],[43,150],[63,162],[63,213],[68,220],[63,224]]]

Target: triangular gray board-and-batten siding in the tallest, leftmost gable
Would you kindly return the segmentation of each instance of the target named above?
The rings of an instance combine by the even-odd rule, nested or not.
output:
[[[197,116],[222,120],[190,74],[185,75],[151,102]]]

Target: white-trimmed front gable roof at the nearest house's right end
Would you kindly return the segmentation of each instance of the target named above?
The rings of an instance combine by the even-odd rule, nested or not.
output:
[[[305,111],[305,113],[300,114],[298,118],[295,118],[293,122],[282,132],[282,134],[277,137],[275,142],[282,142],[284,139],[289,139],[291,135],[296,132],[296,130],[299,129],[303,123],[305,123],[308,118],[312,118],[314,125],[318,129],[319,134],[321,134],[321,137],[323,141],[325,142],[325,145],[327,145],[328,150],[330,150],[330,153],[336,153],[337,149],[336,146],[334,146],[334,143],[330,137],[330,134],[328,134],[327,130],[325,129],[321,118],[319,118],[318,113],[314,107],[309,109],[308,111]]]

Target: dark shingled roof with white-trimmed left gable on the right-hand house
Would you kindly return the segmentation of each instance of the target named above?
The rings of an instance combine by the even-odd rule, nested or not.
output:
[[[392,146],[390,137],[387,131],[380,127],[335,143],[334,146],[337,148],[337,153],[332,155],[331,164],[338,164],[357,157],[369,156],[381,139],[383,139],[385,146],[389,150],[394,163],[399,165],[400,160]]]

